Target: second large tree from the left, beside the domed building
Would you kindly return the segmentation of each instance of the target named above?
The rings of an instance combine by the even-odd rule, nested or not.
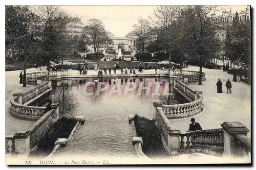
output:
[[[47,65],[49,68],[50,60],[56,59],[58,56],[67,55],[70,50],[70,30],[67,30],[67,23],[71,21],[71,17],[66,12],[59,9],[58,6],[40,6],[35,11],[40,18],[41,26],[42,53],[40,65]]]

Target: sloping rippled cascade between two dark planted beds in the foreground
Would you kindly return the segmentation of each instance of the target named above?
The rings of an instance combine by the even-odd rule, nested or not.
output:
[[[67,155],[111,158],[136,156],[128,120],[109,116],[86,120],[76,131],[72,142],[61,148],[56,157]]]

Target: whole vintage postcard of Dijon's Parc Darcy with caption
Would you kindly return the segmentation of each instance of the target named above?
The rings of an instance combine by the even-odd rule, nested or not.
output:
[[[6,164],[250,164],[250,11],[5,6]]]

